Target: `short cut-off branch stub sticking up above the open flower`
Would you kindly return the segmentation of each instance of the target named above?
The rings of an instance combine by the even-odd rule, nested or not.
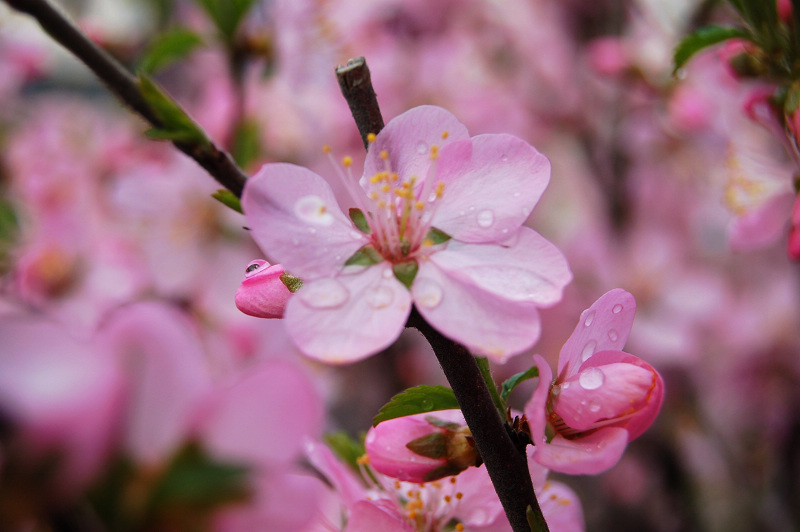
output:
[[[350,106],[350,112],[358,126],[364,147],[368,148],[367,135],[377,135],[383,129],[383,116],[378,106],[378,98],[372,88],[369,67],[363,57],[350,59],[346,65],[336,67],[339,88]]]

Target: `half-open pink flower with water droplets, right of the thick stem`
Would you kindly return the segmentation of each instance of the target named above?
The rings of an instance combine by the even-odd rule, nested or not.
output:
[[[622,289],[600,297],[561,349],[555,381],[547,361],[534,356],[539,384],[525,415],[540,464],[568,474],[605,471],[658,415],[661,376],[620,351],[635,313],[633,296]]]

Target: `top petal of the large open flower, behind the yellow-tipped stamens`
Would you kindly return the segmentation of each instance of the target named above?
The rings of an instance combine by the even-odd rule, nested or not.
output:
[[[444,132],[446,138],[442,138]],[[403,178],[417,176],[421,181],[431,166],[431,146],[442,149],[468,138],[467,128],[449,111],[433,105],[414,107],[390,120],[378,133],[364,161],[364,176],[386,169],[386,161],[380,158],[381,151],[386,150],[394,172]]]

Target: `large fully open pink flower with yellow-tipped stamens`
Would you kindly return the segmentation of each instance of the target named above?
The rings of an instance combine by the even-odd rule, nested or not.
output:
[[[470,138],[449,112],[422,106],[371,142],[359,183],[345,167],[352,221],[323,178],[291,164],[265,165],[242,197],[258,245],[304,282],[285,316],[303,352],[367,357],[394,342],[412,303],[476,353],[504,360],[533,345],[538,307],[572,277],[522,226],[549,181],[546,157],[510,135]]]

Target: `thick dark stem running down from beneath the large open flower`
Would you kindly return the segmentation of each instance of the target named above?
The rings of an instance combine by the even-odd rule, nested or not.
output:
[[[425,336],[439,359],[511,528],[514,532],[531,530],[527,515],[530,508],[531,522],[538,524],[536,532],[547,532],[528,473],[527,457],[514,446],[475,358],[464,346],[431,327],[416,308],[411,311],[408,325]]]

